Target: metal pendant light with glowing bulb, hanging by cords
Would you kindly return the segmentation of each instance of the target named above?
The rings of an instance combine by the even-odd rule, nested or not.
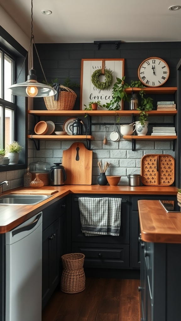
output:
[[[18,80],[18,78],[17,78],[14,85],[9,87],[8,89],[11,91],[11,94],[17,95],[17,96],[24,96],[24,97],[53,96],[57,93],[57,91],[49,85],[37,82],[36,71],[33,68],[33,45],[34,45],[34,48],[35,48],[37,56],[38,56],[38,52],[37,52],[37,49],[36,49],[36,46],[34,43],[34,36],[33,36],[33,0],[31,0],[31,17],[32,17],[31,44],[30,44],[30,49],[28,51],[30,53],[30,55],[29,55],[29,74],[27,77],[27,81],[21,82],[21,83],[16,83]],[[26,57],[24,59],[24,63],[25,63],[25,60],[26,60]],[[39,60],[39,63],[41,65],[41,68],[43,71],[43,67],[40,62],[39,56],[38,56],[38,60]],[[23,63],[23,65],[24,65],[24,63]],[[22,69],[23,69],[23,66],[22,66]],[[22,69],[21,69],[21,71],[22,71]],[[20,74],[21,74],[21,71],[20,71]],[[18,77],[19,77],[19,75],[18,75]],[[43,71],[43,75],[44,75],[45,81],[47,82],[44,71]]]

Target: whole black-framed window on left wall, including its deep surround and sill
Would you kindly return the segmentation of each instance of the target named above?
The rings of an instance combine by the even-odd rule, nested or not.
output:
[[[28,74],[26,56],[27,50],[0,26],[0,149],[14,140],[23,147],[19,163],[0,166],[0,172],[27,168],[28,100],[7,91],[17,75],[18,82],[25,81]]]

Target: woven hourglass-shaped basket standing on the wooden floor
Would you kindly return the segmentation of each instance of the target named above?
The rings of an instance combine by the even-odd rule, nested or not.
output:
[[[82,253],[70,253],[62,256],[62,292],[78,293],[85,289],[84,257],[85,255]]]

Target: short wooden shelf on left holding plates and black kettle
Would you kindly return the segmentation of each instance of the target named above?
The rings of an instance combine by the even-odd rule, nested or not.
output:
[[[94,140],[91,135],[28,135],[28,138],[40,140]]]

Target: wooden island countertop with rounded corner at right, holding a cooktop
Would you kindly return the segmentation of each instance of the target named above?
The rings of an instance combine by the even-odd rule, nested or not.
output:
[[[156,243],[181,243],[181,212],[167,213],[159,201],[138,201],[141,239]]]

